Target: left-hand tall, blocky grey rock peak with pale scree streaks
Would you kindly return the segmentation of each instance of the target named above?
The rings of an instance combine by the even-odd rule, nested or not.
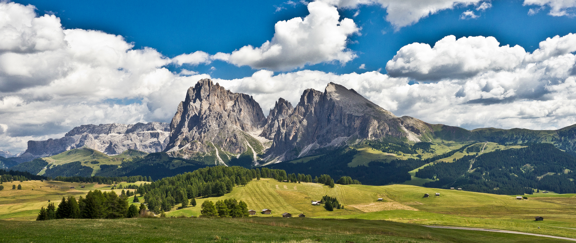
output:
[[[258,136],[265,123],[262,108],[251,96],[202,79],[180,102],[165,151],[209,164],[226,164],[241,154],[256,159],[267,142]]]

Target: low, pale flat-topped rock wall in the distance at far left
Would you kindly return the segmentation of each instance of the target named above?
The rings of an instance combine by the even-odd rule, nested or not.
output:
[[[28,149],[20,158],[32,160],[48,157],[83,146],[108,155],[120,154],[128,149],[160,152],[168,144],[168,123],[100,124],[74,127],[63,138],[46,141],[28,141]]]

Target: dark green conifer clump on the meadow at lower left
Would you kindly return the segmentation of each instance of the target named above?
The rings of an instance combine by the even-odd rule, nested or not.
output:
[[[54,203],[49,203],[47,208],[40,208],[40,213],[36,220],[43,221],[49,219],[63,218],[134,218],[139,215],[139,210],[134,204],[128,206],[128,197],[126,193],[118,196],[115,192],[102,192],[100,190],[90,191],[86,198],[80,198],[78,201],[74,196],[67,199],[62,198],[58,207]],[[145,210],[145,206],[141,206]]]

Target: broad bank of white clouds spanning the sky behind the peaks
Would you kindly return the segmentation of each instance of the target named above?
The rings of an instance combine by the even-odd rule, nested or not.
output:
[[[262,47],[250,47],[247,53],[275,61],[270,67],[294,67],[316,62],[308,55],[324,50],[307,44],[332,41],[337,44],[318,54],[323,56],[319,62],[344,62],[341,54],[351,58],[354,54],[345,41],[358,31],[354,22],[339,20],[336,9],[325,3],[308,7],[308,17],[276,24],[281,26],[276,29],[278,38],[269,42],[268,51],[279,44],[278,56],[266,54]],[[59,138],[81,124],[170,121],[186,90],[211,77],[188,70],[172,73],[166,65],[207,64],[226,56],[229,62],[252,60],[245,57],[248,54],[238,54],[242,58],[233,61],[234,52],[218,57],[202,51],[170,59],[153,48],[136,50],[122,36],[63,29],[57,17],[36,16],[31,5],[2,2],[0,16],[5,17],[0,21],[0,149],[14,153],[24,150],[28,140]],[[336,31],[338,38],[315,36],[314,28],[326,23],[325,28],[342,29],[322,35]],[[311,39],[287,38],[292,33],[310,37],[312,32]],[[306,51],[282,52],[294,43]],[[518,45],[501,46],[494,37],[446,36],[434,46],[413,43],[400,48],[386,64],[388,74],[259,70],[250,77],[214,80],[233,92],[251,94],[264,113],[279,97],[296,104],[303,90],[324,90],[328,82],[335,82],[396,115],[429,123],[552,129],[576,123],[575,51],[574,34],[543,40],[532,53]],[[251,62],[258,63],[257,58]]]

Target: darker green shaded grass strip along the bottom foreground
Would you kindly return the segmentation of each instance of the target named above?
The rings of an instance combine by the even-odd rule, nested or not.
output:
[[[432,229],[363,219],[250,217],[247,219],[0,220],[0,242],[566,242],[486,231]]]

